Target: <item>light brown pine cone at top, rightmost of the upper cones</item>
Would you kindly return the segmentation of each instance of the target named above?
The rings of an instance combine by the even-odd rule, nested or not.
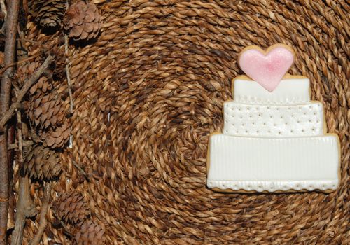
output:
[[[64,29],[76,41],[97,37],[101,29],[101,15],[96,5],[83,1],[73,3],[64,17]]]

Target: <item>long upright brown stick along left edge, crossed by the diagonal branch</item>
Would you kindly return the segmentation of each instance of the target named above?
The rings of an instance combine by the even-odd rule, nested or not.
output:
[[[6,39],[4,66],[15,60],[15,41],[17,36],[18,12],[20,0],[11,0],[6,18]],[[3,115],[10,106],[11,76],[13,67],[8,68],[1,78],[0,88],[0,115]],[[8,216],[8,149],[7,127],[0,134],[0,244],[6,244],[6,228]]]

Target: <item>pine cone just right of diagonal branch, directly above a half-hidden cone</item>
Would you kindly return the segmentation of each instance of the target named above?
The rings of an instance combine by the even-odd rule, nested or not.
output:
[[[38,83],[40,83],[40,80]],[[41,84],[38,85],[40,86]],[[45,89],[48,88],[46,85],[43,86]],[[44,129],[48,128],[50,125],[62,124],[66,116],[64,104],[55,92],[33,96],[31,100],[25,104],[25,107],[30,120],[34,122],[36,126],[41,125]]]

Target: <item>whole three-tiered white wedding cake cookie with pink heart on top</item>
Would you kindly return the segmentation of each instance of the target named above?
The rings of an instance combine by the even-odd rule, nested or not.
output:
[[[285,45],[239,55],[246,76],[235,78],[223,106],[223,134],[209,140],[207,186],[218,191],[335,190],[339,139],[326,134],[323,106],[311,102],[309,79],[285,75],[294,54]]]

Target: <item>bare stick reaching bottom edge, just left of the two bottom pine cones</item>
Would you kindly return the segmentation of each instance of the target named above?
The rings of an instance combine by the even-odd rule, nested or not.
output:
[[[41,241],[41,237],[43,237],[43,232],[46,228],[46,225],[48,225],[46,214],[48,213],[50,197],[51,197],[51,182],[47,183],[45,186],[43,202],[41,205],[38,233],[36,233],[33,241],[31,241],[31,245],[39,244],[39,242]]]

